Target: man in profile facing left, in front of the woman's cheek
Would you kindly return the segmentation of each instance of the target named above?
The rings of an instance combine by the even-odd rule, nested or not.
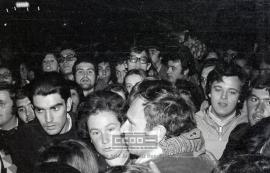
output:
[[[161,172],[166,173],[211,172],[213,165],[200,157],[195,157],[192,152],[172,151],[173,154],[168,156],[162,149],[166,140],[196,128],[192,120],[191,106],[168,82],[143,81],[131,95],[127,120],[121,130],[125,133],[130,153],[139,156],[136,163],[153,161]],[[176,148],[182,147],[180,143],[174,146],[173,150],[181,150]],[[192,148],[191,145],[188,147]]]

